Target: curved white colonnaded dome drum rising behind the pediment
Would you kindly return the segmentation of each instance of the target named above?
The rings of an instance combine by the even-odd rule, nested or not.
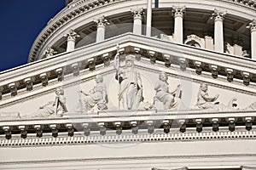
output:
[[[76,48],[79,48],[129,31],[146,35],[147,20],[150,18],[151,37],[256,59],[255,52],[251,50],[256,39],[253,38],[256,2],[195,0],[188,3],[173,0],[160,1],[159,8],[154,6],[153,2],[150,17],[146,0],[137,3],[124,0],[73,1],[38,35],[32,45],[29,62],[45,58],[47,48],[54,48],[58,53],[65,52],[67,37],[64,35],[71,29],[79,35],[75,39]],[[142,8],[136,16],[137,10]],[[134,30],[138,28],[141,30]]]

